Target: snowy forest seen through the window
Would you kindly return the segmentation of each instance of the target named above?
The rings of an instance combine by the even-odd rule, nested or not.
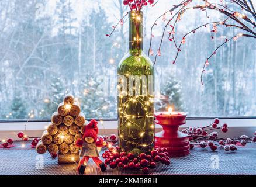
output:
[[[144,9],[145,52],[154,20],[177,2],[160,0]],[[122,0],[0,0],[0,119],[49,119],[66,93],[75,95],[86,117],[116,118],[116,96],[102,96],[98,77],[115,71],[127,51],[126,19],[113,37],[105,36],[126,11]],[[185,13],[179,41],[196,26],[223,19],[216,12],[209,15]],[[154,53],[164,24],[161,20],[154,29]],[[210,60],[205,85],[200,84],[205,59],[235,34],[236,29],[219,27],[212,40],[209,28],[198,30],[186,38],[175,65],[176,50],[165,37],[155,65],[160,82],[155,109],[174,105],[188,116],[255,116],[255,40],[223,46]]]

